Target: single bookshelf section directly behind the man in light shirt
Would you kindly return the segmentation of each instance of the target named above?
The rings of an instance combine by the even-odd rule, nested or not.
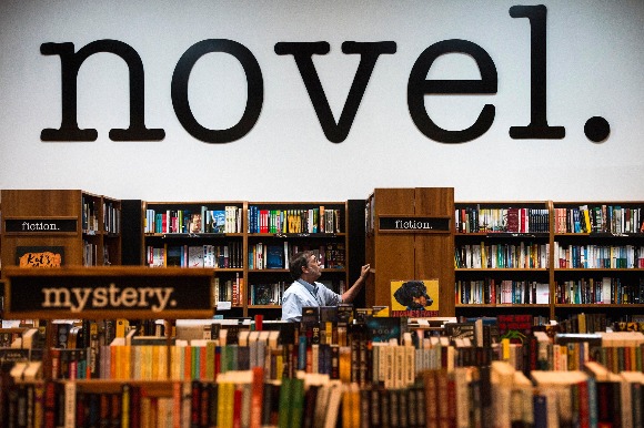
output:
[[[296,252],[318,254],[319,281],[329,288],[342,294],[350,286],[346,202],[249,202],[248,218],[248,315],[274,308],[272,316],[281,316],[281,295],[293,282],[289,259]]]

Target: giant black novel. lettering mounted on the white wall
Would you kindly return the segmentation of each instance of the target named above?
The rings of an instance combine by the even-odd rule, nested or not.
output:
[[[543,4],[512,6],[509,13],[513,19],[527,19],[527,24],[522,23],[520,28],[521,31],[530,33],[531,40],[530,123],[511,126],[510,137],[562,140],[565,137],[565,128],[551,125],[546,116],[547,9]],[[326,41],[280,41],[274,44],[273,49],[278,55],[293,57],[324,135],[333,143],[341,143],[351,131],[376,62],[381,57],[395,54],[398,44],[393,40],[342,42],[342,53],[358,55],[360,62],[338,121],[313,61],[313,55],[328,54],[331,51],[331,44]],[[78,50],[72,42],[46,42],[40,45],[40,52],[43,55],[60,57],[62,82],[60,128],[43,129],[40,134],[42,141],[95,141],[98,139],[95,129],[79,128],[77,92],[81,65],[90,57],[101,52],[121,58],[128,67],[130,79],[130,125],[127,129],[110,130],[109,137],[112,141],[161,141],[165,137],[163,129],[149,129],[145,125],[145,73],[143,60],[133,47],[113,39],[95,40]],[[200,123],[192,111],[189,98],[191,71],[202,57],[214,52],[230,54],[239,61],[246,79],[246,105],[243,115],[238,123],[225,130],[209,129]],[[481,79],[427,79],[433,63],[446,54],[471,57],[479,69]],[[485,104],[480,114],[472,118],[470,126],[463,130],[446,130],[439,126],[430,116],[425,108],[425,96],[496,94],[497,86],[496,65],[485,49],[470,40],[441,40],[427,47],[412,67],[406,86],[409,112],[419,131],[431,140],[445,144],[472,141],[492,126],[496,114],[494,104]],[[229,39],[205,39],[191,45],[178,60],[170,82],[170,94],[177,119],[192,136],[212,144],[230,143],[245,136],[258,122],[264,103],[264,77],[255,55],[245,45]],[[610,131],[608,122],[601,116],[592,116],[584,125],[584,133],[594,142],[605,140]]]

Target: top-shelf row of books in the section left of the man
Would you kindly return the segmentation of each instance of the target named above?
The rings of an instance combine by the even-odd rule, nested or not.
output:
[[[241,233],[242,208],[145,210],[144,233]]]

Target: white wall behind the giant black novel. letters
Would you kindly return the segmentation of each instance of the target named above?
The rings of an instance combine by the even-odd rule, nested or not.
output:
[[[547,120],[563,140],[513,140],[530,122],[530,24],[514,4],[547,7]],[[0,2],[0,188],[82,188],[148,201],[312,201],[364,198],[374,187],[453,186],[457,201],[644,200],[644,2],[519,1],[23,1]],[[78,122],[95,142],[42,142],[61,122],[60,58],[46,42],[76,50],[100,39],[133,47],[145,70],[145,123],[161,142],[113,142],[129,124],[127,67],[100,53],[82,65]],[[179,123],[170,98],[177,61],[204,39],[231,39],[256,58],[264,102],[243,139],[207,144]],[[482,47],[499,73],[494,95],[432,96],[432,119],[450,130],[470,126],[485,103],[492,128],[462,144],[429,140],[406,104],[410,71],[423,50],[446,39]],[[381,55],[349,137],[324,136],[292,55],[280,41],[328,41],[314,59],[335,118],[358,55],[343,41],[394,41]],[[441,58],[432,79],[477,79],[469,57]],[[245,105],[245,77],[223,53],[203,57],[190,80],[200,123],[225,129]],[[611,135],[591,142],[591,116]]]

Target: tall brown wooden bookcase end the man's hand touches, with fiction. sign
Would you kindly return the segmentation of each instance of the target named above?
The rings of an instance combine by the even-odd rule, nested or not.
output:
[[[452,187],[373,191],[365,207],[366,306],[391,307],[392,281],[437,279],[439,315],[454,315],[453,215]]]

